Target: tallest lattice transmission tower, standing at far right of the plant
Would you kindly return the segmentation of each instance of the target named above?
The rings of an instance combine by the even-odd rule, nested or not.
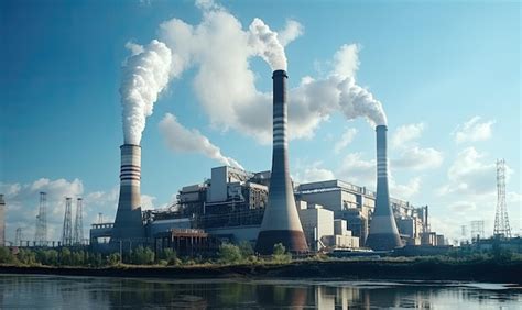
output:
[[[505,206],[505,160],[497,160],[497,212],[494,214],[494,236],[511,237],[508,208]]]

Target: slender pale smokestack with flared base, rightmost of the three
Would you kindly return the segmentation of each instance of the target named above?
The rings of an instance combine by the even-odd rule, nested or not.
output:
[[[378,125],[377,132],[377,197],[370,223],[370,234],[366,245],[372,250],[390,251],[401,247],[401,239],[396,229],[395,219],[390,204],[388,189],[388,155],[387,155],[385,125]]]

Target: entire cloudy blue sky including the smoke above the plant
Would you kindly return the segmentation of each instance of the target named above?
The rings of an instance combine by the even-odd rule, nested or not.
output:
[[[219,165],[271,165],[271,73],[287,67],[297,181],[374,188],[388,122],[392,196],[432,229],[492,232],[496,160],[521,232],[520,3],[2,1],[0,192],[7,236],[50,237],[64,197],[116,212],[119,146],[142,145],[144,208]],[[278,8],[275,10],[275,8]],[[124,120],[124,128],[123,128]],[[86,230],[87,233],[87,230]]]

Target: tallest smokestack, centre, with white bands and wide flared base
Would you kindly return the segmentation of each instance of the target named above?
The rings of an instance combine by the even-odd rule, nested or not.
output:
[[[303,228],[295,207],[294,191],[290,180],[286,140],[287,104],[284,70],[273,73],[273,153],[269,201],[264,210],[261,231],[255,244],[260,254],[272,254],[273,246],[282,243],[286,251],[308,251]]]

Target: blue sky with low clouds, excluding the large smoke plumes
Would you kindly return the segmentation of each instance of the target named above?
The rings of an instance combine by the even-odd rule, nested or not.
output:
[[[520,3],[219,4],[244,31],[254,18],[276,32],[289,20],[301,24],[301,35],[285,46],[292,88],[305,76],[327,79],[336,52],[344,44],[357,46],[349,59],[358,64],[354,77],[382,102],[389,140],[395,141],[389,151],[392,196],[431,206],[433,228],[442,233],[458,239],[460,225],[471,220],[485,220],[490,233],[494,160],[505,158],[510,220],[520,233]],[[2,1],[0,5],[0,181],[9,206],[8,239],[17,226],[32,239],[40,190],[52,196],[53,236],[61,230],[65,195],[86,198],[88,223],[98,212],[113,217],[123,142],[118,89],[121,66],[131,54],[126,44],[165,41],[161,23],[180,19],[198,25],[204,9],[193,1]],[[236,45],[230,42],[230,48]],[[214,55],[205,57],[227,58],[228,49],[208,49]],[[270,66],[260,57],[247,60],[257,91],[270,92]],[[199,96],[205,87],[195,80],[199,70],[195,64],[173,78],[146,119],[142,193],[149,208],[168,203],[182,186],[203,181],[211,167],[221,165],[197,150],[170,150],[159,130],[166,113],[248,170],[270,169],[270,143],[244,133],[241,125],[248,124],[213,120],[211,102]],[[320,98],[315,103],[320,109]],[[362,118],[346,120],[338,111],[323,117],[305,119],[317,125],[290,142],[293,177],[306,181],[334,176],[374,187],[373,129]],[[345,145],[336,147],[342,136]]]

